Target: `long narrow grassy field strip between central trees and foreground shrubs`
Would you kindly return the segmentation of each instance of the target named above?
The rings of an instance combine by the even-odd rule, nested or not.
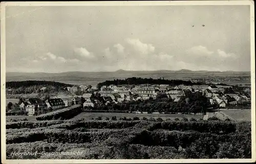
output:
[[[117,119],[121,117],[126,117],[126,118],[133,118],[133,117],[139,117],[140,119],[143,117],[146,118],[155,118],[157,119],[158,117],[162,118],[163,120],[166,119],[175,119],[175,118],[195,118],[195,119],[200,119],[203,118],[202,115],[175,115],[175,114],[134,114],[134,113],[81,113],[77,116],[74,117],[74,119],[91,119],[91,118],[97,118],[97,117],[102,117],[102,119],[105,119],[106,117],[111,118],[112,116],[116,116]]]

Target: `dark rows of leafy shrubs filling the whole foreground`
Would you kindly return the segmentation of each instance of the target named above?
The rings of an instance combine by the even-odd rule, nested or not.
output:
[[[251,123],[178,120],[48,120],[6,125],[7,159],[251,158]],[[12,156],[12,152],[83,151]]]

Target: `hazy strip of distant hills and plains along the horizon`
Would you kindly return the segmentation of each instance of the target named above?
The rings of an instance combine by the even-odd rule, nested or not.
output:
[[[6,81],[24,80],[46,80],[58,81],[66,84],[93,85],[96,86],[105,80],[125,79],[129,77],[141,78],[160,78],[189,80],[191,78],[205,78],[208,76],[250,76],[250,72],[231,72],[231,71],[191,71],[191,70],[157,70],[157,71],[127,71],[117,70],[114,72],[62,72],[62,73],[24,73],[7,72]]]

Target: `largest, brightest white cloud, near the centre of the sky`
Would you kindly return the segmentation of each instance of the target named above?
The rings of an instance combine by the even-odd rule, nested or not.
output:
[[[152,44],[142,43],[139,39],[127,38],[126,42],[143,54],[148,54],[155,51],[155,47]]]

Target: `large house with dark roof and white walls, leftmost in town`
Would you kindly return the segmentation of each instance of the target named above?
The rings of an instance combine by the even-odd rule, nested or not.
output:
[[[20,104],[28,112],[28,115],[36,115],[38,112],[46,109],[46,104],[39,98],[29,98]]]

